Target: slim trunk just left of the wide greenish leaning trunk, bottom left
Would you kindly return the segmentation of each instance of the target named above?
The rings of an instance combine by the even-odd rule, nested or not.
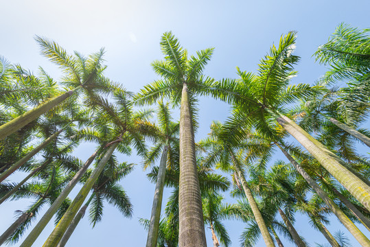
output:
[[[63,191],[59,194],[58,198],[51,204],[51,207],[47,209],[46,213],[43,215],[41,220],[36,224],[36,226],[32,229],[31,233],[27,235],[23,243],[20,247],[31,247],[32,244],[36,241],[37,237],[41,234],[47,223],[51,220],[51,217],[56,213],[62,202],[67,198],[69,192],[75,187],[75,185],[78,183],[80,178],[84,175],[86,172],[86,169],[89,168],[91,163],[93,163],[93,160],[95,159],[95,156],[97,155],[97,152],[100,151],[102,147],[100,147],[98,150],[96,150],[93,155],[90,156],[90,158],[84,163],[84,165],[78,170],[78,172],[73,176],[71,181],[69,181],[67,187],[63,189]]]

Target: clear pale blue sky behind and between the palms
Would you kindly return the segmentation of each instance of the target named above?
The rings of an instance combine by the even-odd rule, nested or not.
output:
[[[53,39],[67,51],[76,50],[85,55],[105,47],[106,76],[122,83],[126,89],[138,92],[157,78],[150,62],[163,58],[159,47],[163,32],[171,30],[189,54],[215,47],[205,74],[221,79],[235,78],[236,66],[255,71],[259,59],[270,45],[278,43],[281,34],[296,30],[295,54],[301,56],[301,62],[296,67],[299,75],[293,82],[312,84],[325,71],[325,67],[312,58],[317,47],[327,41],[341,22],[353,27],[369,27],[369,9],[370,2],[366,0],[1,1],[0,55],[35,73],[41,66],[58,79],[60,71],[40,55],[34,35]],[[178,110],[174,110],[174,114],[178,114]],[[206,136],[212,120],[224,121],[228,115],[229,106],[226,104],[201,99],[200,128],[196,140]],[[91,150],[93,145],[86,145],[79,148],[76,154],[86,159]],[[363,152],[369,150],[364,148]],[[141,164],[134,156],[119,157],[122,161]],[[276,158],[281,156],[277,154]],[[150,217],[154,185],[148,182],[141,165],[123,180],[122,185],[134,204],[132,219],[126,219],[116,209],[106,206],[103,220],[95,228],[91,229],[87,217],[83,218],[68,246],[144,246],[146,231],[139,225],[138,218]],[[165,194],[168,195],[169,191],[165,189]],[[73,194],[76,194],[76,189]],[[30,204],[29,200],[2,204],[0,232],[12,223],[15,210],[23,210]],[[314,242],[325,243],[321,233],[310,228],[307,217],[298,215],[295,226],[312,246]],[[48,225],[34,246],[42,246],[52,228]],[[227,222],[232,246],[239,246],[242,228],[242,223]],[[340,228],[349,236],[335,219],[328,228],[332,232]],[[211,246],[211,234],[208,230],[206,234]],[[353,238],[351,244],[359,246]],[[285,240],[284,245],[293,246]],[[264,246],[264,243],[260,241],[258,246]]]

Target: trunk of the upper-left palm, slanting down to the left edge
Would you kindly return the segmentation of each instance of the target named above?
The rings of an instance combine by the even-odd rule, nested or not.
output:
[[[2,126],[0,126],[0,140],[4,139],[5,137],[8,137],[8,135],[16,132],[16,130],[19,130],[26,124],[29,124],[30,122],[34,121],[34,119],[40,117],[41,115],[49,111],[51,108],[58,106],[58,104],[63,102],[69,96],[73,95],[75,91],[80,89],[80,87],[81,86],[78,86],[76,87],[76,89],[63,93],[62,95],[59,95],[57,97],[54,97],[48,100],[47,102],[40,104],[36,108],[33,108],[32,110],[27,111],[27,113],[24,113],[23,115],[19,117],[16,117],[12,121],[9,121],[8,123],[3,124]]]

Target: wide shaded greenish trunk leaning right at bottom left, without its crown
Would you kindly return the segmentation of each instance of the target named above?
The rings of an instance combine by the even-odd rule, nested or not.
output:
[[[122,137],[122,135],[120,137]],[[100,173],[102,173],[107,161],[109,160],[109,158],[111,158],[111,155],[113,154],[113,151],[115,150],[115,148],[117,148],[118,144],[119,142],[113,143],[108,148],[103,158],[97,164],[97,167],[91,173],[90,177],[86,180],[86,183],[80,189],[76,198],[73,200],[73,202],[71,203],[71,205],[69,206],[65,214],[63,215],[62,219],[58,222],[58,225],[56,226],[56,228],[54,228],[54,231],[49,235],[49,237],[47,238],[43,246],[45,247],[53,246],[54,247],[54,246],[57,246],[57,244],[60,242],[60,239],[65,234],[65,231],[67,231],[69,224],[71,224],[73,218],[76,216],[82,203],[86,199],[86,196],[89,194],[89,191],[93,187]]]

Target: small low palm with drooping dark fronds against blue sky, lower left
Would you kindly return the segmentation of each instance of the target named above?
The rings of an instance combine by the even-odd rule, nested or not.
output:
[[[71,237],[73,231],[78,225],[78,222],[80,222],[81,218],[84,216],[84,213],[87,207],[89,207],[90,202],[92,202],[93,206],[90,208],[89,218],[91,220],[91,224],[93,224],[93,227],[102,219],[104,199],[107,200],[108,203],[117,207],[117,209],[119,209],[119,211],[125,217],[130,217],[132,215],[132,204],[130,199],[126,195],[126,192],[122,186],[117,183],[119,180],[122,180],[122,178],[128,175],[134,166],[126,163],[119,165],[114,163],[109,165],[109,167],[106,167],[105,171],[100,174],[99,178],[95,182],[95,185],[93,185],[89,200],[87,200],[84,206],[81,207],[80,211],[78,211],[76,217],[74,217],[73,221],[65,232],[65,235],[63,235],[62,239],[60,240],[58,247],[63,247],[65,244],[67,244],[69,237]]]

